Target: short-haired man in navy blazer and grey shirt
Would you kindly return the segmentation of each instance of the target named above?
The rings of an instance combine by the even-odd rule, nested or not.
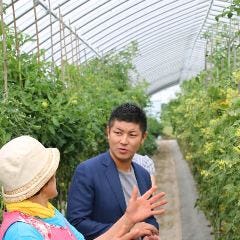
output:
[[[132,162],[146,138],[147,120],[141,108],[126,103],[113,110],[107,128],[109,151],[80,163],[68,193],[67,218],[87,240],[106,232],[125,212],[133,186],[139,194],[151,187],[149,173]],[[159,239],[158,223],[150,217],[136,224]]]

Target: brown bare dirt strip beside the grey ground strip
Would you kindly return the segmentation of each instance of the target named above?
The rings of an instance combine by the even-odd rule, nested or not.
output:
[[[168,141],[159,141],[159,152],[153,156],[159,191],[166,193],[168,204],[165,213],[159,216],[161,240],[181,240],[179,189],[175,162]]]

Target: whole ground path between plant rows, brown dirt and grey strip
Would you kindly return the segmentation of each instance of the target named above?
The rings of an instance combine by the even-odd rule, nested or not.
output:
[[[176,140],[160,140],[153,156],[157,184],[166,192],[166,212],[158,218],[161,240],[212,240],[209,222],[194,207],[197,191],[194,179]]]

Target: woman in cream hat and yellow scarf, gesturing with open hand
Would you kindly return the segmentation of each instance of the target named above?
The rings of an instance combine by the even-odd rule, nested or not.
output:
[[[0,149],[0,185],[7,212],[3,214],[0,239],[83,240],[84,237],[49,202],[57,196],[55,173],[60,153],[57,148],[45,148],[30,136],[21,136]],[[128,208],[98,240],[130,240],[148,235],[151,227],[134,229],[134,224],[163,209],[164,193],[151,197],[155,188],[137,198],[133,190]],[[130,231],[130,232],[129,232]]]

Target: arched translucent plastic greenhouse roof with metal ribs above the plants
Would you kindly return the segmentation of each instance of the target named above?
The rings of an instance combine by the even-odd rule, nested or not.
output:
[[[22,51],[45,49],[60,64],[84,62],[138,43],[135,81],[154,94],[198,74],[205,66],[202,34],[227,0],[7,0],[4,21],[36,41]],[[15,21],[14,21],[15,19]],[[61,22],[61,24],[60,24]],[[36,30],[37,29],[37,30]],[[38,34],[36,32],[38,31]],[[72,50],[72,49],[75,50]],[[61,51],[62,49],[62,51]]]

